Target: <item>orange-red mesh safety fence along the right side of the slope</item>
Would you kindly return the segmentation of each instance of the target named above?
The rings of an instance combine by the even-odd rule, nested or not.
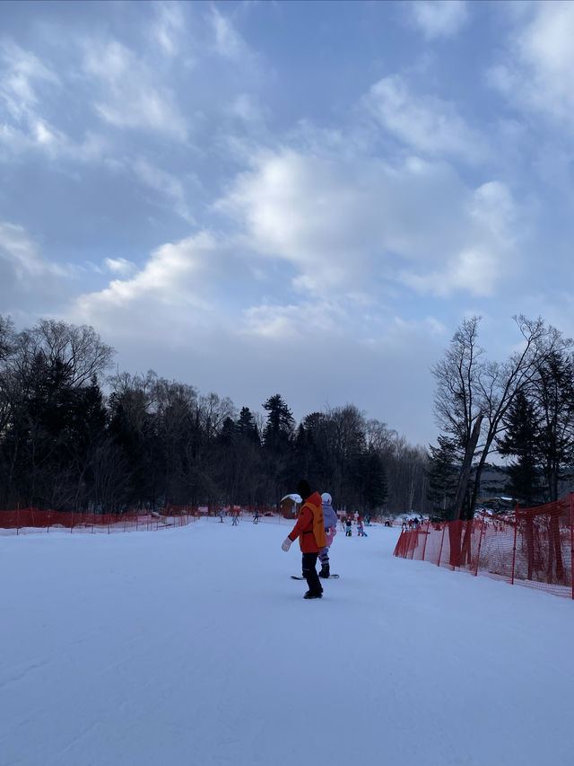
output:
[[[395,556],[574,599],[574,494],[504,515],[419,524],[401,533]]]

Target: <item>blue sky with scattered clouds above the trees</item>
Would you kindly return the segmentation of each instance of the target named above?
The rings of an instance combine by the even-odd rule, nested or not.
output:
[[[574,336],[574,4],[0,3],[0,314],[436,443],[465,317]]]

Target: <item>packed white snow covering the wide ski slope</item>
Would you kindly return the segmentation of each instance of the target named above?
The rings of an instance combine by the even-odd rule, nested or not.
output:
[[[0,537],[2,766],[574,762],[574,603],[290,528]]]

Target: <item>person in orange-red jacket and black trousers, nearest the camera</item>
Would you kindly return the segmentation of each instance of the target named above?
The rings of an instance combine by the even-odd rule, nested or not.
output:
[[[299,537],[300,549],[303,554],[303,577],[309,586],[309,590],[303,598],[322,598],[323,586],[317,575],[317,556],[319,550],[325,548],[326,545],[323,502],[318,492],[311,491],[309,481],[305,479],[300,480],[297,485],[297,492],[303,500],[299,518],[281,547],[283,550],[289,550],[291,542]]]

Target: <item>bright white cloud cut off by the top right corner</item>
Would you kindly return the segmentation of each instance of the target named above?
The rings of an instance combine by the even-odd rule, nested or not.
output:
[[[574,4],[528,4],[489,81],[517,107],[574,127]]]

